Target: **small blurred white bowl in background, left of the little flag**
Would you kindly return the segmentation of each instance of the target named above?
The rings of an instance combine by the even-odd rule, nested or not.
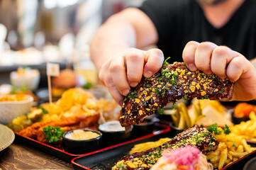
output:
[[[25,85],[27,89],[35,90],[38,88],[40,73],[37,69],[30,69],[26,74],[17,74],[15,71],[11,72],[10,79],[11,83],[18,88]]]

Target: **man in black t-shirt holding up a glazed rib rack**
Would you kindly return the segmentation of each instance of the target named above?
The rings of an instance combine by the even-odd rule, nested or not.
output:
[[[256,69],[249,62],[255,42],[255,0],[148,0],[108,18],[90,50],[99,79],[119,104],[165,57],[236,81],[233,100],[249,101],[256,98]],[[152,44],[159,49],[139,50]]]

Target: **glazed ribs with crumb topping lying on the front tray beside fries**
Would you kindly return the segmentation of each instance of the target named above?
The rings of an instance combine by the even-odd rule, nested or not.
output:
[[[160,147],[154,147],[145,152],[137,152],[122,157],[112,169],[150,169],[150,167],[162,157],[164,149],[176,149],[191,145],[197,147],[203,154],[218,149],[218,141],[206,128],[194,125],[192,128],[179,133],[172,140],[165,142]]]

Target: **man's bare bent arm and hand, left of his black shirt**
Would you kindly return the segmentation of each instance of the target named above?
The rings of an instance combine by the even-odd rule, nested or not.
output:
[[[111,16],[97,31],[90,44],[91,60],[116,102],[121,103],[142,74],[151,77],[162,67],[164,57],[160,50],[134,48],[154,44],[157,39],[152,21],[137,8]]]

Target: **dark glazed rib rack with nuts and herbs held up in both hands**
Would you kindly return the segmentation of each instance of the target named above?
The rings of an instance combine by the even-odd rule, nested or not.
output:
[[[219,79],[216,74],[191,72],[186,64],[163,64],[162,69],[150,78],[143,77],[140,84],[124,98],[120,113],[123,127],[140,123],[155,111],[160,113],[169,102],[181,98],[209,98],[228,101],[232,98],[233,82]]]

